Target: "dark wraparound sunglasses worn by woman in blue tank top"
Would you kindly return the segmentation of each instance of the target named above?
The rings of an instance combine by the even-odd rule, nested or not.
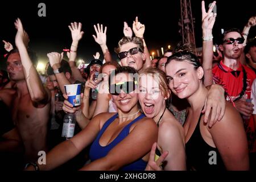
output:
[[[121,93],[121,90],[125,93],[131,93],[135,90],[136,85],[138,85],[137,81],[125,81],[112,84],[110,85],[109,93],[114,96],[118,96]]]

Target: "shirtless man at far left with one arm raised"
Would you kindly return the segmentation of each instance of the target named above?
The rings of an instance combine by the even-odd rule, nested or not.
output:
[[[47,122],[51,109],[49,90],[42,81],[28,55],[28,35],[22,22],[14,23],[18,30],[15,37],[17,49],[10,52],[7,72],[16,84],[14,88],[2,89],[0,100],[10,107],[11,115],[22,138],[25,162],[38,158],[39,151],[46,151]]]

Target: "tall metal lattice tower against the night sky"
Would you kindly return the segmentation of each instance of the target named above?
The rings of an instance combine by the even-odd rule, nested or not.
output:
[[[194,19],[192,16],[190,0],[180,0],[181,19],[179,26],[182,36],[183,44],[191,44],[194,51],[196,51],[196,40],[194,32]]]

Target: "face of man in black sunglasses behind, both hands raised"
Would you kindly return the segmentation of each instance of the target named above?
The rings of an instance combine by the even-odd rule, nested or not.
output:
[[[138,45],[133,42],[129,42],[129,43],[123,44],[120,47],[119,52],[129,51],[131,48],[134,48],[134,47],[138,47]],[[143,60],[146,60],[146,56],[144,55],[143,52],[138,52],[138,53],[135,53],[134,55],[127,53],[127,56],[121,59],[121,64],[122,64],[122,67],[129,66],[139,71],[143,67]]]

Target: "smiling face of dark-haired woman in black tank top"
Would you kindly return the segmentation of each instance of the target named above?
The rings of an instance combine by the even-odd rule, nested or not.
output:
[[[171,60],[166,65],[166,75],[170,89],[179,98],[188,98],[201,84],[203,68],[195,67],[188,61]]]

